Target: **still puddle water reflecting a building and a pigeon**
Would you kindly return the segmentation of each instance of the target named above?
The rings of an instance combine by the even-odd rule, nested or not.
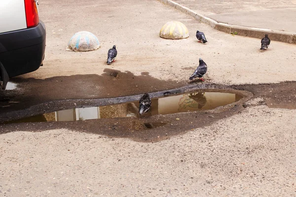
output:
[[[231,93],[202,92],[151,99],[151,115],[209,110],[236,102],[242,97]],[[139,101],[99,107],[75,108],[40,114],[13,122],[83,121],[100,118],[137,117]],[[12,123],[9,122],[9,123]],[[162,123],[161,123],[162,124]],[[159,127],[156,123],[145,124],[146,128]]]

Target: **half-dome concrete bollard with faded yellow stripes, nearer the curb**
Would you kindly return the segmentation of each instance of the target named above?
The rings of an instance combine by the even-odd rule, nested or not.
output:
[[[189,32],[183,23],[170,21],[162,26],[159,36],[166,39],[183,39],[189,37]]]

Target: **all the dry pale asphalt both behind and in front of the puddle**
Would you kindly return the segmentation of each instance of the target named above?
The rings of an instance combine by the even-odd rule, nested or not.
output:
[[[117,45],[118,59],[108,68],[136,75],[149,72],[176,83],[192,74],[199,57],[209,66],[206,82],[258,84],[296,78],[294,45],[272,41],[269,49],[261,52],[259,39],[213,30],[158,1],[88,0],[85,4],[81,0],[42,0],[39,4],[47,28],[44,66],[18,77],[20,83],[31,77],[33,81],[50,81],[53,76],[101,75],[113,44]],[[202,30],[209,42],[200,44],[193,36],[159,38],[159,29],[171,20],[185,23],[190,33]],[[87,53],[65,51],[69,37],[81,30],[98,35],[102,47]],[[92,91],[100,90],[101,85],[95,84]],[[79,94],[77,90],[83,87],[77,87]],[[36,95],[27,99],[30,97]],[[209,127],[157,143],[109,139],[67,128],[2,134],[0,194],[294,196],[295,114],[292,109],[252,106]]]

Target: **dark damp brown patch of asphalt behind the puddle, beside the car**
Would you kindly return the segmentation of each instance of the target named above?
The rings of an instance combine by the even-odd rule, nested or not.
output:
[[[129,71],[105,69],[102,75],[57,76],[46,79],[15,77],[17,89],[0,91],[1,113],[26,109],[53,100],[115,98],[157,92],[185,85],[185,82],[164,81],[148,72],[134,75]]]

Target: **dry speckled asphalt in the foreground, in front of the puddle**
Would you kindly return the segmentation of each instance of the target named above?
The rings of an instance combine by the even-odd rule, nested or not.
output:
[[[250,107],[157,143],[64,130],[0,135],[6,197],[289,197],[296,110]]]

